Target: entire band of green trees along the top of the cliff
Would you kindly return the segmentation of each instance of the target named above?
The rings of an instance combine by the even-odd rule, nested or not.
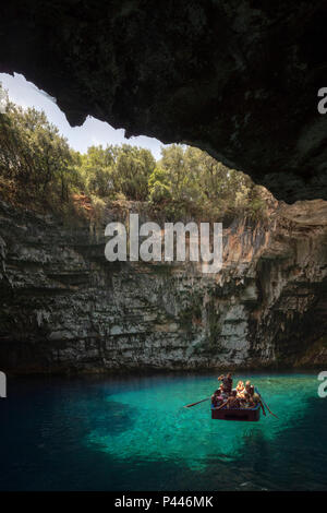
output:
[[[148,150],[129,144],[89,146],[81,154],[44,112],[8,98],[0,115],[0,177],[57,208],[84,194],[101,208],[112,200],[147,202],[167,219],[265,212],[262,188],[206,152],[172,144],[161,148],[157,163]]]

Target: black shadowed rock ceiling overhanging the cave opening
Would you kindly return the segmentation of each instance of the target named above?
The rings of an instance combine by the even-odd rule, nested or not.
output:
[[[0,70],[87,115],[207,150],[288,203],[327,199],[324,0],[13,0]]]

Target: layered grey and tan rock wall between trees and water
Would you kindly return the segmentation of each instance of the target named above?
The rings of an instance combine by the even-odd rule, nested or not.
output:
[[[211,275],[192,263],[109,263],[104,228],[126,211],[107,210],[90,230],[1,202],[1,369],[327,363],[327,203],[267,201],[266,219],[223,220],[223,267]]]

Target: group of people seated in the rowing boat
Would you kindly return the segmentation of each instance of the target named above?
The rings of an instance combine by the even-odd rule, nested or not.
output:
[[[251,381],[239,381],[238,386],[233,389],[233,380],[231,372],[226,375],[219,375],[218,381],[221,381],[219,389],[211,395],[211,404],[214,407],[226,408],[255,408],[261,397],[255,392],[254,385]]]

